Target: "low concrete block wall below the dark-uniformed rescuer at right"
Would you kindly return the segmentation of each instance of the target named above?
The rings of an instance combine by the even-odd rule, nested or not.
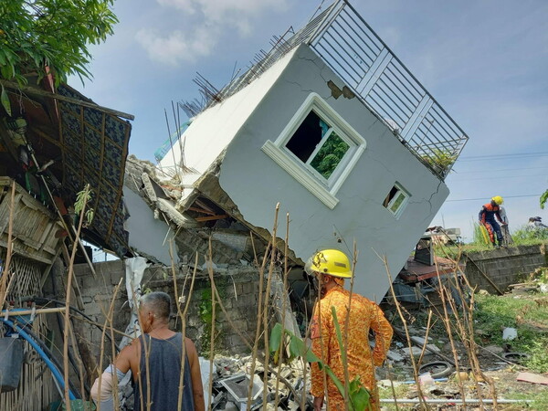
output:
[[[539,267],[548,266],[546,244],[536,246],[518,246],[468,253],[466,256],[466,274],[472,286],[497,291],[480,273],[481,269],[490,279],[504,291],[509,285],[522,279]],[[472,261],[476,264],[474,264]]]

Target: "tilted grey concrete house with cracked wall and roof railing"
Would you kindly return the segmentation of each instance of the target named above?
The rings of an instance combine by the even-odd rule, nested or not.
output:
[[[182,176],[182,211],[267,238],[279,203],[293,263],[320,248],[351,254],[355,240],[354,290],[380,300],[382,257],[395,276],[448,197],[468,137],[337,1],[211,92],[180,139],[160,167]]]

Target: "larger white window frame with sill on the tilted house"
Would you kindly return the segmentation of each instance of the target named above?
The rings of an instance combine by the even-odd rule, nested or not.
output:
[[[325,121],[330,126],[330,132],[323,136],[321,139],[322,142],[316,146],[307,163],[303,163],[294,153],[290,152],[286,144],[311,111],[314,111],[322,121]],[[325,179],[310,163],[333,131],[350,148],[344,153],[341,162],[330,177]],[[324,205],[334,208],[339,203],[339,199],[335,195],[352,172],[362,153],[364,153],[365,140],[337,111],[332,109],[327,101],[323,100],[317,93],[311,93],[291,118],[288,125],[279,134],[279,137],[274,142],[269,140],[265,142],[261,150],[308,189],[311,194],[318,197]]]

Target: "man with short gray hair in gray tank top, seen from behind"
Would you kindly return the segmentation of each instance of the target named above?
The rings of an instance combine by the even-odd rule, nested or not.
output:
[[[170,311],[171,299],[165,292],[142,296],[139,321],[143,335],[121,350],[114,366],[102,374],[100,387],[96,380],[91,388],[94,399],[111,395],[114,369],[119,377],[131,369],[134,410],[175,411],[179,404],[183,411],[205,409],[195,344],[169,329]]]

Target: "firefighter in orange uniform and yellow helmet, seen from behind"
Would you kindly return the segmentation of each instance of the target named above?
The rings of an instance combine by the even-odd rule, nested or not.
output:
[[[325,249],[314,254],[306,265],[306,271],[314,275],[321,292],[316,302],[311,322],[312,351],[323,364],[328,365],[344,383],[344,365],[348,367],[349,381],[357,376],[371,394],[371,409],[378,410],[374,367],[383,364],[392,341],[393,330],[385,314],[371,300],[353,293],[350,312],[347,310],[350,292],[344,290],[344,279],[351,279],[353,271],[348,257],[337,249]],[[347,364],[342,364],[341,349],[336,336],[332,307],[337,313],[344,342],[344,330],[348,319]],[[374,350],[369,346],[369,330],[374,331]],[[323,374],[317,363],[311,365],[311,394],[314,411],[321,410],[324,396],[328,409],[344,410],[344,399],[331,378],[327,376],[324,389]]]

